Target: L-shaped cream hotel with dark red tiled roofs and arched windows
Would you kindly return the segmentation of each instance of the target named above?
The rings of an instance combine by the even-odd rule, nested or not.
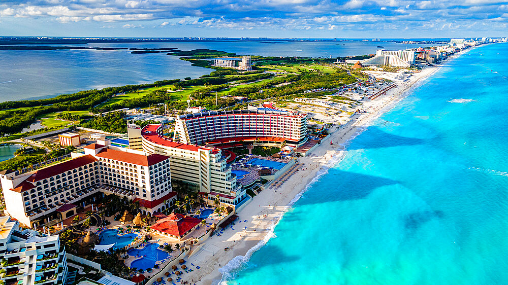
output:
[[[34,171],[0,172],[7,212],[28,227],[72,218],[105,194],[140,202],[143,215],[174,204],[169,157],[92,144],[72,159]]]

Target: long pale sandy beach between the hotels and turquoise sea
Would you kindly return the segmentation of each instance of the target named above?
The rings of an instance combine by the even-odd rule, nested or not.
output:
[[[250,259],[250,256],[264,246],[274,236],[274,228],[293,204],[309,189],[309,187],[321,175],[326,174],[328,169],[337,164],[346,154],[347,145],[372,123],[393,109],[412,88],[418,87],[419,82],[424,81],[436,73],[444,64],[453,58],[469,51],[467,49],[458,52],[439,65],[424,68],[407,82],[397,83],[397,87],[389,90],[387,94],[371,101],[369,113],[355,115],[346,124],[334,127],[330,136],[322,141],[322,144],[312,151],[310,156],[300,157],[300,166],[291,179],[279,187],[270,186],[240,210],[237,215],[238,221],[247,220],[245,224],[237,224],[236,227],[246,229],[233,231],[225,230],[222,236],[213,236],[204,242],[196,254],[186,259],[199,264],[200,270],[186,274],[184,280],[190,284],[218,284],[234,277],[233,274]],[[334,144],[330,145],[329,142]],[[256,207],[256,205],[258,205]],[[224,251],[225,247],[230,250]]]

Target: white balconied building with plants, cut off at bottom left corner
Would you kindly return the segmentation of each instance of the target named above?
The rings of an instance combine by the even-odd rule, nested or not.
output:
[[[11,217],[0,217],[0,260],[3,284],[65,284],[67,258],[58,235],[40,236],[22,229]]]

